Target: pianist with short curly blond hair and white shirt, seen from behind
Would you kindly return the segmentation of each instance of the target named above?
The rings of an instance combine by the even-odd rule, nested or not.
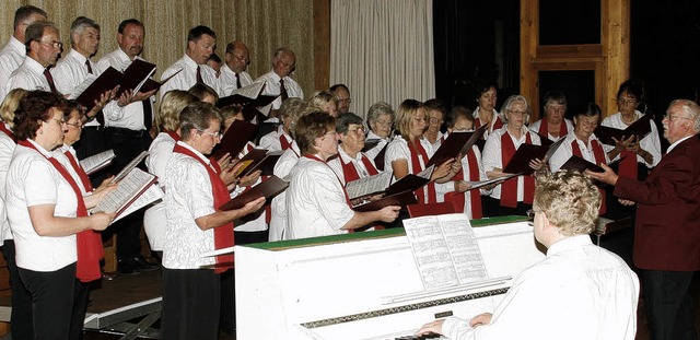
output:
[[[450,317],[418,335],[450,339],[634,339],[639,281],[617,255],[591,243],[600,195],[562,171],[538,178],[534,233],[547,258],[525,269],[493,314]]]

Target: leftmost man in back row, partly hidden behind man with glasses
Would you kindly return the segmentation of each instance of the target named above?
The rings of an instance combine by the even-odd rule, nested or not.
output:
[[[24,32],[26,27],[37,21],[46,21],[48,15],[39,8],[23,5],[14,12],[14,32],[7,44],[0,49],[0,84],[7,84],[10,75],[16,70],[24,57],[26,57],[26,46],[24,46]],[[4,85],[0,85],[0,103],[8,95]]]

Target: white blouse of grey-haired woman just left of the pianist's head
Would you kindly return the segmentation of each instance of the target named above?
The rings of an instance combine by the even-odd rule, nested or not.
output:
[[[489,139],[486,140],[486,144],[483,145],[483,152],[481,154],[481,164],[483,164],[483,171],[486,173],[492,172],[494,168],[503,168],[505,164],[503,164],[502,152],[503,149],[501,146],[501,136],[508,133],[513,141],[513,145],[515,145],[515,150],[521,146],[526,140],[526,134],[529,133],[530,140],[535,145],[541,145],[541,141],[537,133],[529,131],[526,127],[522,128],[522,136],[520,139],[515,139],[513,134],[508,132],[508,124],[503,126],[503,128],[494,130],[489,136]],[[513,179],[509,179],[513,180]],[[524,189],[524,176],[517,176],[517,201],[522,202],[525,196]],[[491,191],[491,197],[495,199],[501,199],[501,185],[495,186]]]

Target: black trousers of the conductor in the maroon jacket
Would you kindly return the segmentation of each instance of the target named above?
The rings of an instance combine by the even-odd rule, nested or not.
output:
[[[646,318],[652,340],[695,340],[692,271],[642,270]]]

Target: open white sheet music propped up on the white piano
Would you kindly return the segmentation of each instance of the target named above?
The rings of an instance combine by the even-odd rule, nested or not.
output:
[[[471,224],[460,213],[404,220],[425,290],[488,279]]]

